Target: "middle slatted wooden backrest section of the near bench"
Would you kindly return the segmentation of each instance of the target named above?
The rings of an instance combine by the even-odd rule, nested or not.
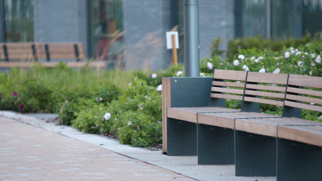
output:
[[[247,73],[244,101],[283,106],[288,74]]]

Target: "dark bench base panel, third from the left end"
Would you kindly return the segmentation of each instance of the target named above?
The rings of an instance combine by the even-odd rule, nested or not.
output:
[[[276,138],[235,130],[235,175],[276,176]]]

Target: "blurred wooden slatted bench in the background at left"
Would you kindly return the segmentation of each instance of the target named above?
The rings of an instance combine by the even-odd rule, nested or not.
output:
[[[44,67],[56,67],[59,62],[51,60],[76,60],[67,62],[68,67],[89,67],[105,68],[103,61],[80,62],[85,60],[85,50],[82,43],[0,43],[0,67],[31,67],[34,64],[41,64]],[[21,61],[29,60],[29,61]],[[33,61],[46,60],[47,62]]]

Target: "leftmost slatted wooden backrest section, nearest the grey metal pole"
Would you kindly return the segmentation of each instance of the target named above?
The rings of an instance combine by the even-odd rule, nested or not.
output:
[[[244,95],[246,71],[215,69],[211,98],[235,99],[241,101]]]

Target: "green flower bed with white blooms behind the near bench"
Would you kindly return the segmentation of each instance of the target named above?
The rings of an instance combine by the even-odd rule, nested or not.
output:
[[[219,56],[200,62],[200,76],[213,69],[297,73],[321,76],[320,43],[297,49],[240,49],[232,61]],[[231,63],[230,63],[231,62]],[[152,147],[162,143],[162,77],[184,76],[183,66],[157,72],[72,71],[61,64],[54,69],[32,67],[0,73],[0,109],[19,112],[57,112],[61,124],[83,132],[118,138],[120,143]],[[240,108],[226,101],[228,108]],[[281,114],[277,106],[261,112]],[[303,117],[322,121],[321,113],[303,111]]]

